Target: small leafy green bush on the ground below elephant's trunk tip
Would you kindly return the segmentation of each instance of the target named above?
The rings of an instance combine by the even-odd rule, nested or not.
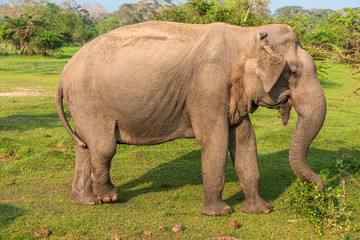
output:
[[[313,183],[296,181],[293,191],[290,192],[290,206],[314,225],[319,235],[325,228],[335,228],[346,235],[353,226],[352,212],[346,209],[344,197],[340,189],[327,188],[318,193]]]

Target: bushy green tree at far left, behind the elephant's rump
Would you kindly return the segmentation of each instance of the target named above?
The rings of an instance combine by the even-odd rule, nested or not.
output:
[[[30,0],[13,1],[12,4],[23,4],[26,1]],[[58,5],[50,2],[32,1],[32,5],[22,7],[20,16],[6,16],[2,22],[1,39],[6,43],[11,42],[13,49],[20,49],[20,54],[47,55],[64,43],[84,43],[90,40],[85,36],[85,27],[79,15],[62,12]]]

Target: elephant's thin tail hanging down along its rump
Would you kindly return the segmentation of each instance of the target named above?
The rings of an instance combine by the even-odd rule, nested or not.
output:
[[[59,114],[60,121],[64,125],[66,131],[79,144],[79,146],[85,148],[86,143],[83,140],[81,140],[80,137],[71,129],[68,121],[66,120],[64,113],[63,99],[64,99],[63,87],[62,84],[59,83],[58,87],[56,88],[55,102],[56,102],[56,110]]]

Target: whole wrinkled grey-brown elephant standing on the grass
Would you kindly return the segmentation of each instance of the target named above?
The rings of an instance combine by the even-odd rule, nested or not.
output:
[[[65,119],[63,98],[76,133]],[[195,137],[201,143],[203,214],[231,213],[222,200],[228,150],[245,195],[243,211],[270,211],[259,195],[248,116],[258,106],[279,109],[284,124],[294,106],[298,121],[290,165],[297,177],[324,188],[306,155],[324,122],[325,97],[313,59],[287,25],[146,22],[119,28],[70,60],[56,105],[76,140],[72,200],[79,204],[117,200],[109,175],[116,144]]]

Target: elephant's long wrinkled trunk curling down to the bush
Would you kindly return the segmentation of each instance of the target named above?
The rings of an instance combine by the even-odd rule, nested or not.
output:
[[[323,181],[310,169],[306,158],[311,142],[324,123],[326,100],[316,74],[314,62],[309,61],[304,64],[304,68],[310,68],[311,71],[300,77],[291,94],[294,108],[298,113],[298,121],[291,139],[289,161],[298,178],[302,181],[315,183],[319,186],[319,191],[323,191]]]

